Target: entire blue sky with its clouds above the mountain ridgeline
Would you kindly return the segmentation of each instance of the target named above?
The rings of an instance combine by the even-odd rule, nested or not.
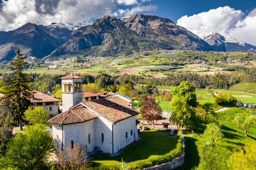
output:
[[[91,24],[105,15],[170,18],[199,37],[210,33],[256,45],[256,0],[0,0],[0,31],[27,22]]]

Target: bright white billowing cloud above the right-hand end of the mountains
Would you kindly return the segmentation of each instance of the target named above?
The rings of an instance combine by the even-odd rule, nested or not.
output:
[[[201,38],[210,33],[219,33],[256,45],[256,8],[246,15],[229,6],[219,7],[189,17],[183,16],[177,20],[177,24]]]

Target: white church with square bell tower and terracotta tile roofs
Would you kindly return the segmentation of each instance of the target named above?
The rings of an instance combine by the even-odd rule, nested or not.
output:
[[[83,101],[81,77],[62,77],[61,84],[62,113],[47,122],[52,124],[52,137],[60,149],[80,143],[87,154],[115,154],[139,139],[138,111],[131,98],[117,93]]]

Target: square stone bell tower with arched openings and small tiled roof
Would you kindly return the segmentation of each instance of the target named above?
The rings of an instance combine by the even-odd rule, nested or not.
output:
[[[65,112],[70,107],[82,102],[82,78],[72,73],[60,79],[62,85],[62,112]]]

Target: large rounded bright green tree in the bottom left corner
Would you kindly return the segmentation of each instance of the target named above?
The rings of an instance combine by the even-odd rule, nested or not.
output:
[[[24,134],[11,138],[6,154],[0,158],[0,169],[44,170],[44,161],[52,149],[52,137],[45,126],[29,126]]]

